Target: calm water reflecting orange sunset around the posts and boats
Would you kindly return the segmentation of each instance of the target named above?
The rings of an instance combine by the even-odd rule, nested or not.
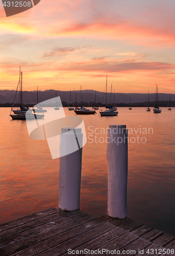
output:
[[[145,108],[119,108],[116,117],[100,117],[96,112],[82,116],[87,143],[80,209],[97,217],[107,214],[103,138],[109,124],[127,124],[128,217],[175,236],[175,109],[162,108],[161,114],[154,114]],[[59,159],[52,159],[46,141],[30,139],[26,121],[11,120],[9,113],[10,108],[0,108],[1,223],[58,206]],[[65,113],[76,115],[67,109]]]

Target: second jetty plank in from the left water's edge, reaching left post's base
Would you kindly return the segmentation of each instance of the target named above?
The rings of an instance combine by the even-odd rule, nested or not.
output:
[[[65,216],[67,216],[67,218],[68,218],[68,216],[71,217],[72,214],[77,214],[77,212],[71,213],[71,212],[66,212],[66,211],[58,211],[57,213],[52,214],[52,216],[48,215],[48,216],[43,217],[41,219],[38,219],[38,220],[35,220],[35,221],[32,221],[32,222],[20,225],[18,227],[12,228],[12,229],[8,229],[8,230],[0,233],[0,240],[4,239],[4,238],[7,238],[7,237],[10,237],[10,236],[13,236],[17,233],[27,231],[27,230],[32,229],[34,227],[43,225],[45,223],[51,222],[51,220],[55,221],[59,218],[65,217]],[[82,216],[85,216],[85,215],[87,215],[87,214],[85,214],[85,212],[82,211]]]

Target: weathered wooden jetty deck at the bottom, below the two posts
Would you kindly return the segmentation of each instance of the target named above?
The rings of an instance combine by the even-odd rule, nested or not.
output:
[[[170,256],[174,251],[169,234],[129,218],[96,218],[80,210],[53,207],[0,225],[1,256]]]

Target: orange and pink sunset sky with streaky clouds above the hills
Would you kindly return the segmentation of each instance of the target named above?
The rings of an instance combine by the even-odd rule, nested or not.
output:
[[[174,0],[41,0],[6,17],[0,4],[0,90],[175,93]]]

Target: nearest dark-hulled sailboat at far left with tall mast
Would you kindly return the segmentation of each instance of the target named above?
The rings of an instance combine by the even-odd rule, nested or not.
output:
[[[22,106],[22,72],[19,71],[19,73],[20,73],[20,77],[19,77],[19,81],[18,81],[18,85],[17,85],[13,105],[14,105],[14,102],[15,102],[18,86],[20,85],[20,112],[19,113],[14,113],[14,115],[11,114],[11,112],[13,111],[13,105],[12,105],[11,112],[10,112],[10,117],[14,120],[26,120],[26,117],[28,119],[43,118],[44,115],[33,114],[32,109],[31,109],[31,111],[28,111],[29,110],[28,107]]]

